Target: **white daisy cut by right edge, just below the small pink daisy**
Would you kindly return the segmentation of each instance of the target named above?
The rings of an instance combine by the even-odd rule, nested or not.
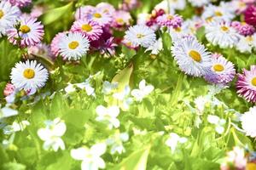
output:
[[[240,41],[236,44],[236,49],[241,53],[251,53],[256,48],[256,33],[253,36],[241,36]]]

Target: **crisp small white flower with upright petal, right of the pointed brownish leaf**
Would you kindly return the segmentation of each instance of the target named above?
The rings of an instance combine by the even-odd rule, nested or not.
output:
[[[139,89],[134,89],[131,91],[131,95],[137,99],[137,101],[141,102],[143,98],[145,98],[148,94],[150,94],[154,90],[154,86],[148,85],[146,86],[146,81],[143,79],[139,83]]]

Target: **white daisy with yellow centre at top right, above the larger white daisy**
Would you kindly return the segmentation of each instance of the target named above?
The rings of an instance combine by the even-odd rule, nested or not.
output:
[[[210,4],[207,6],[201,15],[202,19],[211,22],[212,20],[225,20],[225,21],[230,21],[232,20],[236,15],[228,10],[226,6],[224,5],[219,5],[219,6],[214,6]]]

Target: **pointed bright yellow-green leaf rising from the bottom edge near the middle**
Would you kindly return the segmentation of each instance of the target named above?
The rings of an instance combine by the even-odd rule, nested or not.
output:
[[[150,145],[133,152],[124,161],[119,163],[113,170],[145,170],[147,168]]]

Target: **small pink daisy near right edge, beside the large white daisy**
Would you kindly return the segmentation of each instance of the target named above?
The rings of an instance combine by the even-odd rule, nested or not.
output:
[[[236,31],[238,31],[243,36],[251,36],[255,32],[255,28],[248,25],[246,22],[233,21],[231,26],[233,26]]]

